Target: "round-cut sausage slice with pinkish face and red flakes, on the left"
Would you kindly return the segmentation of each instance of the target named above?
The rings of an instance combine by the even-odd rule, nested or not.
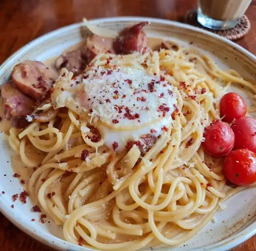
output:
[[[18,89],[35,100],[43,98],[57,78],[57,72],[39,61],[23,61],[12,71],[12,80]]]

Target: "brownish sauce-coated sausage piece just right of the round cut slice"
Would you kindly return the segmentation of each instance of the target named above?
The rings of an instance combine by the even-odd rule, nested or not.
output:
[[[86,65],[87,60],[83,57],[80,49],[63,53],[55,61],[55,68],[57,70],[67,68],[69,71],[72,71],[74,75],[81,73]]]

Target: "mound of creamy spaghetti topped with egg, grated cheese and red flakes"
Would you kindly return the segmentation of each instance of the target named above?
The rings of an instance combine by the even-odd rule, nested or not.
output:
[[[120,81],[112,81],[113,75]],[[95,101],[95,107],[89,102],[89,107],[88,93],[102,91],[102,79],[104,90],[109,88],[106,81],[112,81],[116,98],[113,103]],[[157,91],[151,92],[152,79],[162,86],[162,97],[171,93],[163,102]],[[118,83],[130,84],[130,96],[137,95],[134,89],[144,89],[136,84],[147,85],[147,98],[166,105],[156,111],[153,101],[148,102],[145,123],[143,116],[121,123],[123,87]],[[179,46],[143,55],[99,54],[77,77],[62,69],[51,94],[57,116],[9,132],[9,143],[23,163],[37,167],[28,184],[32,200],[63,226],[65,240],[93,249],[138,250],[186,242],[230,196],[221,163],[203,152],[201,142],[204,128],[219,119],[219,99],[231,84],[256,93],[254,84],[235,71],[223,71],[208,56]],[[137,108],[126,114],[135,116]],[[143,152],[138,141],[154,126],[160,130],[151,129],[155,141],[146,138],[145,145],[151,145]],[[125,140],[117,146],[116,137]],[[40,162],[27,156],[28,146],[41,153]]]

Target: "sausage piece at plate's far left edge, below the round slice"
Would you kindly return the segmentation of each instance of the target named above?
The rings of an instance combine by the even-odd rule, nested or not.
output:
[[[5,116],[7,119],[25,117],[34,111],[35,101],[23,94],[12,80],[3,84],[0,90],[4,100]]]

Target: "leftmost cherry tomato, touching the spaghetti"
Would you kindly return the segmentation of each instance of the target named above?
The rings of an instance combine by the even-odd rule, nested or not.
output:
[[[227,155],[233,148],[235,135],[228,123],[220,120],[213,121],[205,128],[202,142],[204,150],[210,155],[219,157]]]

